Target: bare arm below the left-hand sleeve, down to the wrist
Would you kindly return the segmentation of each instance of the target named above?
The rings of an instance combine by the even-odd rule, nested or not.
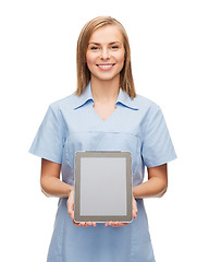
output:
[[[73,186],[60,180],[60,164],[41,159],[40,186],[47,196],[69,198],[73,190]]]

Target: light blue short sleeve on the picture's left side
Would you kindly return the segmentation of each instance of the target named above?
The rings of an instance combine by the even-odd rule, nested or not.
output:
[[[61,164],[65,128],[59,108],[50,105],[40,124],[29,153],[41,158]]]

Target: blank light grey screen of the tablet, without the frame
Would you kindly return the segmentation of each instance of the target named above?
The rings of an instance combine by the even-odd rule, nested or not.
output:
[[[126,215],[126,159],[81,157],[81,215]]]

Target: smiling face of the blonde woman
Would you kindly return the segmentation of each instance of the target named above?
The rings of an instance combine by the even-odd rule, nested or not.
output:
[[[91,79],[120,80],[124,58],[123,36],[116,26],[107,25],[93,33],[86,51]]]

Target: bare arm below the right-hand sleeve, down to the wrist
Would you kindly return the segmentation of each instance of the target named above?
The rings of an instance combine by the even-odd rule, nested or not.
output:
[[[148,181],[133,188],[136,199],[161,198],[168,188],[167,164],[150,167],[148,169]]]

